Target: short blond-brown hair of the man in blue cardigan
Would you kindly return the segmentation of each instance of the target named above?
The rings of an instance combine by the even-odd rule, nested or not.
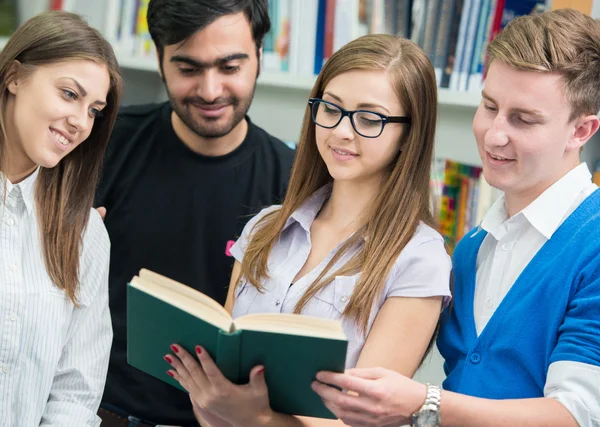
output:
[[[487,50],[493,61],[521,71],[556,73],[564,79],[570,120],[600,111],[600,22],[574,9],[511,21]]]

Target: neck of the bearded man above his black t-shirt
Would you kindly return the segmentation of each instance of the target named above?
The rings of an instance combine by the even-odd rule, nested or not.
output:
[[[193,152],[208,157],[224,156],[238,148],[248,133],[246,119],[240,121],[227,135],[218,138],[204,138],[185,125],[173,111],[171,123],[175,134]]]

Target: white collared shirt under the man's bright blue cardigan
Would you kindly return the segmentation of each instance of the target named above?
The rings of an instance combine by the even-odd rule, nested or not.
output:
[[[504,196],[490,208],[481,223],[488,234],[477,254],[474,314],[478,335],[535,254],[598,188],[591,177],[582,163],[511,218]],[[552,363],[544,394],[565,405],[580,426],[600,426],[600,367]]]

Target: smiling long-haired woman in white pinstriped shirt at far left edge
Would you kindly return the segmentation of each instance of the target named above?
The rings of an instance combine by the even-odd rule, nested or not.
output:
[[[0,424],[98,426],[112,327],[92,203],[121,93],[110,44],[76,15],[0,52]]]

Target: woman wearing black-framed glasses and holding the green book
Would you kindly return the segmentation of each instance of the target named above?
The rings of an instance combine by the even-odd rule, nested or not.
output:
[[[233,317],[340,319],[347,368],[412,377],[450,299],[451,262],[429,210],[436,116],[433,67],[417,45],[369,35],[336,52],[311,92],[283,205],[257,215],[231,249]],[[175,350],[170,372],[203,426],[342,425],[273,413],[263,367],[236,386],[201,347],[200,363]]]

